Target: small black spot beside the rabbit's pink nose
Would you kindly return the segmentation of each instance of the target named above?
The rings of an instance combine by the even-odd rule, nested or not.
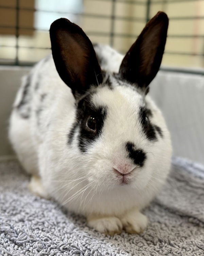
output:
[[[132,142],[126,142],[125,148],[128,151],[129,157],[133,160],[135,165],[139,165],[142,167],[144,165],[146,154],[143,152],[142,149],[135,147],[134,143]]]

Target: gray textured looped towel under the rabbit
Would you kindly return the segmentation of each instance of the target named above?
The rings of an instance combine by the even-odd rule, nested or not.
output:
[[[204,255],[204,168],[179,158],[145,210],[140,234],[105,236],[28,189],[16,161],[0,162],[0,255]]]

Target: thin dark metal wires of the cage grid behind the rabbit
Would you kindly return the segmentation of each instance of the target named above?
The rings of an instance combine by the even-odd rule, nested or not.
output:
[[[92,1],[98,1],[98,0],[92,0]],[[70,13],[74,14],[76,16],[84,16],[84,17],[92,17],[92,18],[103,18],[103,19],[110,19],[111,20],[111,29],[110,32],[88,32],[87,34],[90,35],[98,35],[98,36],[105,36],[109,37],[109,44],[113,46],[114,42],[114,37],[119,36],[119,37],[128,37],[128,38],[137,38],[137,34],[127,34],[127,33],[116,33],[115,28],[114,28],[114,23],[115,20],[124,20],[124,21],[134,21],[134,22],[148,22],[150,19],[150,8],[151,5],[153,4],[158,4],[158,3],[177,3],[177,2],[195,2],[198,0],[146,0],[146,1],[137,1],[137,0],[100,0],[100,1],[109,1],[112,2],[112,10],[111,10],[111,15],[100,15],[100,14],[93,14],[93,13]],[[135,4],[135,5],[145,5],[146,6],[146,17],[145,18],[139,18],[139,17],[124,17],[124,16],[118,16],[116,15],[115,11],[115,6],[116,2],[120,3],[129,3],[129,4]],[[16,0],[16,6],[11,7],[11,6],[1,6],[0,9],[13,9],[16,10],[16,24],[15,26],[3,26],[0,25],[0,28],[9,28],[9,29],[15,29],[15,38],[16,38],[16,44],[15,46],[8,46],[8,45],[0,45],[0,47],[15,47],[16,50],[16,56],[15,56],[15,61],[13,65],[18,65],[18,66],[28,66],[28,65],[33,65],[32,63],[22,63],[19,61],[19,48],[28,48],[28,49],[50,49],[48,47],[34,47],[34,46],[20,46],[18,39],[19,39],[19,29],[26,29],[26,30],[36,30],[36,28],[31,28],[31,27],[26,27],[26,26],[19,26],[19,12],[21,11],[31,11],[31,12],[47,12],[47,13],[57,13],[57,14],[62,14],[63,15],[68,15],[68,12],[61,12],[61,11],[51,11],[51,10],[38,10],[38,9],[33,9],[33,8],[24,8],[20,7],[19,5],[19,0]],[[193,19],[204,19],[204,16],[188,16],[188,17],[169,17],[170,20],[193,20]],[[39,31],[39,30],[38,30]],[[40,31],[48,31],[44,29],[40,29]],[[168,34],[168,38],[204,38],[204,34],[202,35],[196,35],[196,34],[191,34],[191,35],[178,35],[178,34]],[[189,53],[189,52],[172,52],[172,51],[165,51],[165,54],[173,54],[173,55],[191,55],[191,56],[204,56],[204,53]],[[0,63],[1,64],[1,63]],[[10,65],[10,64],[9,64]],[[165,69],[169,70],[169,69]],[[170,71],[174,71],[174,69],[170,69]],[[176,69],[178,71],[178,69]],[[179,71],[183,71],[182,69]],[[204,74],[204,71],[191,71],[188,70],[188,73],[196,73],[196,74]]]

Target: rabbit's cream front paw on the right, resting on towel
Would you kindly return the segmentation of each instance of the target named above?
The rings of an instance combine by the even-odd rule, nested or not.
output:
[[[148,218],[138,210],[126,213],[121,219],[123,229],[130,234],[143,232],[148,223]]]

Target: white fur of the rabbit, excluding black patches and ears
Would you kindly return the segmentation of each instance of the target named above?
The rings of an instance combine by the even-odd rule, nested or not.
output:
[[[97,47],[97,54],[101,54],[102,46]],[[107,59],[106,69],[117,72],[122,55],[110,47],[107,50],[104,48],[103,51],[103,57]],[[110,51],[113,51],[114,63],[109,58]],[[124,83],[119,86],[115,77],[111,76],[114,89],[99,87],[93,99],[96,106],[108,107],[103,132],[82,154],[78,147],[78,131],[72,144],[67,143],[75,120],[74,98],[69,87],[60,79],[52,57],[39,62],[31,75],[30,98],[24,106],[30,108],[30,117],[22,118],[20,111],[24,108],[16,108],[22,97],[23,81],[10,120],[9,138],[22,166],[27,172],[40,176],[46,191],[44,194],[55,198],[70,211],[92,219],[89,225],[98,231],[118,232],[122,222],[124,228],[127,226],[125,223],[131,224],[127,231],[140,232],[146,227],[147,219],[139,211],[159,191],[170,168],[170,135],[160,110],[149,96],[145,97],[153,113],[151,122],[158,125],[164,134],[164,138],[157,134],[158,140],[150,142],[138,119],[143,96],[130,85]],[[35,90],[39,81],[39,88]],[[40,103],[43,94],[46,96]],[[39,104],[42,104],[43,110],[38,119],[36,111]],[[147,152],[148,159],[142,168],[135,168],[131,159],[126,157],[123,144],[127,141]],[[120,185],[112,169],[125,164],[135,170],[131,183]],[[135,207],[137,211],[134,216],[131,209]]]

